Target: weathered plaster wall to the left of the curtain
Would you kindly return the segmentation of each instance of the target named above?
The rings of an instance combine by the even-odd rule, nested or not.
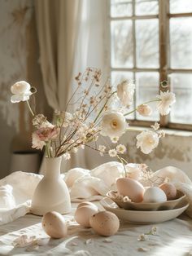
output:
[[[31,150],[30,113],[25,103],[11,104],[11,85],[28,81],[38,90],[37,111],[47,106],[33,5],[33,0],[0,2],[0,178],[10,173],[12,152]]]

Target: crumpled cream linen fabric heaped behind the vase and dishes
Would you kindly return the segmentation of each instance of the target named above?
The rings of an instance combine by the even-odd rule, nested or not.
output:
[[[94,201],[105,196],[107,191],[116,189],[116,179],[124,176],[124,167],[111,161],[93,170],[74,168],[62,176],[70,190],[71,201]],[[167,177],[186,194],[190,201],[187,214],[192,218],[192,182],[185,172],[167,166],[157,170],[155,176]],[[30,212],[33,192],[41,179],[40,174],[16,171],[0,180],[0,225]]]

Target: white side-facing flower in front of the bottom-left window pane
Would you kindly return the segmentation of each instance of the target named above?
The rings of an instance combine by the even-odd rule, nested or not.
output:
[[[117,86],[117,96],[125,107],[133,104],[134,90],[135,85],[133,82],[123,81]]]

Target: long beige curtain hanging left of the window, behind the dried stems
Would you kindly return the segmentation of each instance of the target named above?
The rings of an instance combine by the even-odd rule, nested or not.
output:
[[[72,92],[73,77],[88,66],[107,66],[104,49],[103,0],[36,0],[41,72],[50,107],[63,110]],[[104,3],[104,4],[103,4]],[[71,109],[72,110],[72,109]],[[88,168],[85,151],[63,163],[63,171]],[[43,165],[42,165],[43,166]],[[43,167],[41,168],[43,169]],[[41,170],[40,170],[41,172]]]

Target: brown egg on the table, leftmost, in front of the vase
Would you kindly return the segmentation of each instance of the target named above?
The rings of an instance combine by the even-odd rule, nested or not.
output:
[[[42,217],[41,225],[46,234],[52,238],[62,238],[68,234],[63,216],[55,211],[46,213]]]

